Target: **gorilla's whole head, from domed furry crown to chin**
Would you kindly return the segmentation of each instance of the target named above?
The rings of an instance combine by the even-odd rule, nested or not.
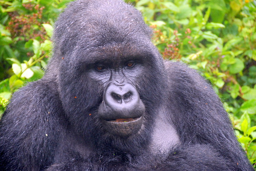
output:
[[[60,99],[72,127],[99,143],[147,142],[167,78],[140,12],[119,0],[78,0],[60,15],[54,42],[45,77],[58,69]]]

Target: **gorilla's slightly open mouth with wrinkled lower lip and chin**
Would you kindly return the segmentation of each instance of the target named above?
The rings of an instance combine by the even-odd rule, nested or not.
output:
[[[127,137],[137,133],[143,123],[143,116],[138,118],[117,118],[115,120],[102,120],[105,130],[112,135]]]

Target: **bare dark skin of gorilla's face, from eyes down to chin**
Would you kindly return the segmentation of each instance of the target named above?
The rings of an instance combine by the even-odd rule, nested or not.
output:
[[[103,128],[121,137],[137,133],[143,123],[145,107],[136,88],[143,63],[134,57],[114,63],[96,62],[89,76],[103,84],[103,100],[98,115]]]

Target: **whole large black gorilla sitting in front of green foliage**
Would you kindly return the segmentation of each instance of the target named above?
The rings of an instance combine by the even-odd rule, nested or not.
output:
[[[0,170],[254,170],[211,86],[151,36],[122,0],[70,3],[44,77],[6,108]]]

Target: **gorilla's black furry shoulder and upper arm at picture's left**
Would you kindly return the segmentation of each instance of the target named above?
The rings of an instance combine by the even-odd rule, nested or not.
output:
[[[61,103],[53,87],[53,81],[41,79],[13,94],[0,125],[0,168],[41,170],[52,163],[52,149],[64,132]]]

